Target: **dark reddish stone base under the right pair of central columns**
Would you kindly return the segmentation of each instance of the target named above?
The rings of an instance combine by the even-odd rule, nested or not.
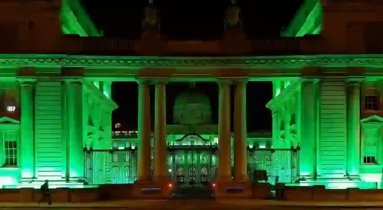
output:
[[[252,196],[250,181],[218,181],[213,188],[217,199],[249,199]]]

